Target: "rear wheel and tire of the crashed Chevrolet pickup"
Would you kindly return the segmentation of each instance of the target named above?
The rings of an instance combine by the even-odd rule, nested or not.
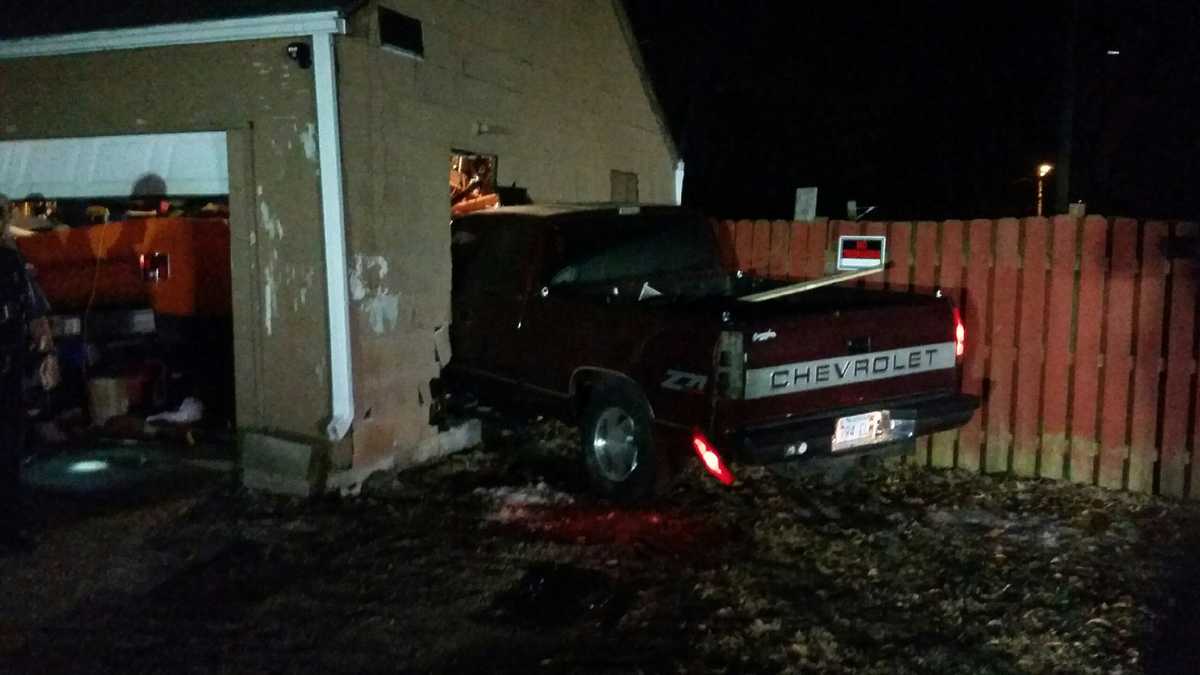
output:
[[[580,418],[580,452],[596,494],[626,503],[654,495],[659,456],[650,424],[637,387],[606,382],[592,390]]]

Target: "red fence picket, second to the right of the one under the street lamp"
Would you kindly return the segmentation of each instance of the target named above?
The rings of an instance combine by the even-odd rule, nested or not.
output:
[[[1079,301],[1075,319],[1075,371],[1070,410],[1070,479],[1096,478],[1096,414],[1099,400],[1100,327],[1104,323],[1104,246],[1108,223],[1084,220],[1079,250]]]

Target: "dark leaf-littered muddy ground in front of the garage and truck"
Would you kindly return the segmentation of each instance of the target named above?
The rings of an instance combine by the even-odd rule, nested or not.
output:
[[[0,671],[1200,671],[1192,506],[890,466],[620,508],[562,428],[514,438],[355,497],[206,479],[50,526],[0,557]]]

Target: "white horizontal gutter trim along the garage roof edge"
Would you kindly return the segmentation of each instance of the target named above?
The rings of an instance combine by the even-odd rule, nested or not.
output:
[[[0,60],[344,32],[338,12],[271,14],[0,40]]]

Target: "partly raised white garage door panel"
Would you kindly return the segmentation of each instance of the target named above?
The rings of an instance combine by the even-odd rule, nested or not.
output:
[[[155,177],[163,195],[228,195],[224,132],[0,142],[0,192],[11,198],[128,197]]]

